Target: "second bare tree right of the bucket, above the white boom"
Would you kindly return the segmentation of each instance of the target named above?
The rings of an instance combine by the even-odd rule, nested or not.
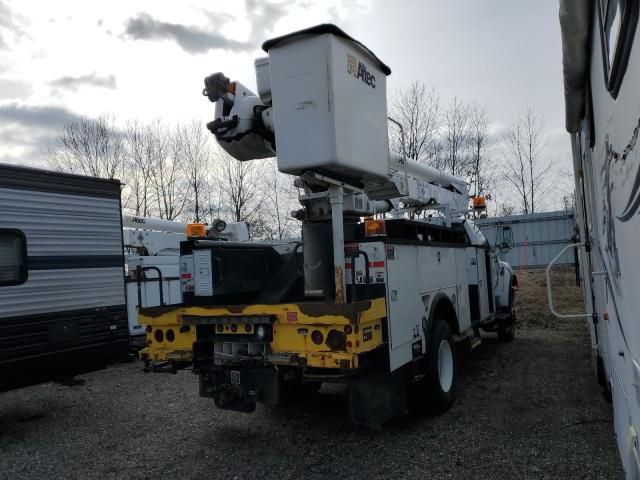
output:
[[[469,156],[467,148],[470,135],[470,114],[468,105],[458,97],[453,97],[444,112],[443,155],[445,169],[452,175],[468,176]],[[442,166],[438,166],[442,168]]]

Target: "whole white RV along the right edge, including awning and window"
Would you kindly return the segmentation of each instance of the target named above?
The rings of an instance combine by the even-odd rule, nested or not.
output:
[[[588,319],[594,367],[612,399],[629,479],[640,478],[639,9],[636,0],[560,1],[580,228],[567,248],[578,249],[586,305],[568,316]]]

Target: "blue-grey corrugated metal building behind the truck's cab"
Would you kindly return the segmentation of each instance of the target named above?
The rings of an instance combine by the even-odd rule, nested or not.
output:
[[[513,248],[502,259],[516,268],[545,267],[571,243],[573,211],[544,212],[531,215],[484,218],[476,221],[491,245],[496,243],[500,225],[509,225],[513,232]],[[568,250],[558,265],[572,265],[574,251]]]

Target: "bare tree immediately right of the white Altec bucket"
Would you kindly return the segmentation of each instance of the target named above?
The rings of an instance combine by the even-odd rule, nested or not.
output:
[[[399,129],[392,127],[391,146],[397,152],[419,161],[433,156],[438,133],[440,99],[435,90],[414,81],[406,90],[396,92],[391,103],[391,115],[404,129],[404,145]],[[403,148],[404,147],[404,148]]]

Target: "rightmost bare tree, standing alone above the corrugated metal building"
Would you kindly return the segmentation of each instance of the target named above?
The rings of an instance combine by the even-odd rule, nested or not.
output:
[[[551,187],[552,163],[542,159],[546,143],[544,120],[531,108],[509,125],[503,138],[504,179],[515,189],[524,214],[535,213]]]

